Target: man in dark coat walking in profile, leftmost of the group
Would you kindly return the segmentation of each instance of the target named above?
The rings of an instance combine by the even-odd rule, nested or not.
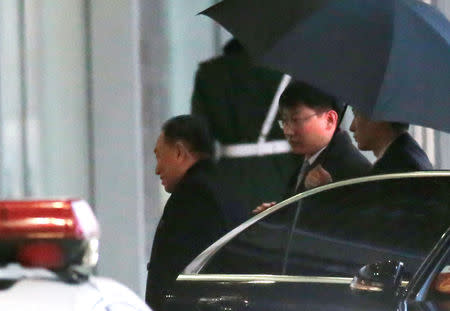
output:
[[[147,266],[146,302],[160,310],[178,274],[223,233],[226,197],[211,161],[213,139],[193,116],[168,120],[155,146],[156,174],[171,193]]]

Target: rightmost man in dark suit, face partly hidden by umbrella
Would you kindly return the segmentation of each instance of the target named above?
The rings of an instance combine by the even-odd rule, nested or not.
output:
[[[350,126],[358,148],[371,150],[377,157],[371,174],[431,170],[426,153],[408,134],[408,124],[371,121],[354,110]]]

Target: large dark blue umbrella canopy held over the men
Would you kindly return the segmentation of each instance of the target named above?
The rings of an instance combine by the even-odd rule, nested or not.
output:
[[[416,0],[225,0],[201,12],[260,64],[375,120],[450,132],[450,22]]]

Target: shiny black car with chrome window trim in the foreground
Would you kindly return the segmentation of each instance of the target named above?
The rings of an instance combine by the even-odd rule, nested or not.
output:
[[[448,233],[442,237],[449,205],[444,171],[357,178],[298,194],[200,254],[164,309],[450,310],[449,296],[429,290],[449,262]],[[361,269],[370,263],[378,264]],[[428,299],[435,309],[421,304]]]

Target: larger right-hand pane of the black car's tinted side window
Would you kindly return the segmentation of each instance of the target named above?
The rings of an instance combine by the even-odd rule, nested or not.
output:
[[[397,259],[412,275],[450,223],[449,190],[447,178],[409,178],[301,200],[286,273],[353,276],[364,264]]]

